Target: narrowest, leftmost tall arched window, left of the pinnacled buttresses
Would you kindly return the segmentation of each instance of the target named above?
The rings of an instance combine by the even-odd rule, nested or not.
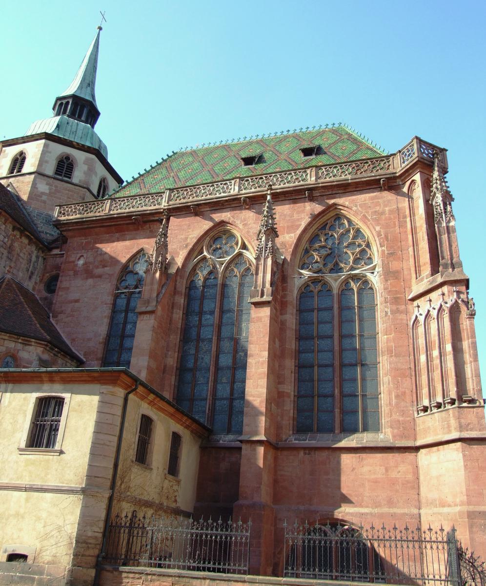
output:
[[[145,271],[150,258],[145,252],[135,255],[118,278],[105,348],[104,367],[129,368],[137,321],[136,306],[142,296]]]

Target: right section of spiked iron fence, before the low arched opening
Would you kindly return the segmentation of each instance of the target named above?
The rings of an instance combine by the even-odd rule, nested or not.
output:
[[[307,522],[284,527],[284,577],[486,586],[484,565],[460,547],[454,528],[356,529]]]

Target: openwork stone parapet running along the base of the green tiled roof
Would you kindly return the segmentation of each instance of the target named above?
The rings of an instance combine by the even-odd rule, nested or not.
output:
[[[401,169],[418,160],[433,163],[434,153],[438,152],[441,163],[447,168],[445,151],[428,142],[414,137],[403,149],[393,155],[382,156],[361,161],[334,163],[333,165],[319,165],[303,169],[291,169],[266,173],[265,175],[251,175],[237,177],[225,181],[204,183],[202,185],[184,186],[167,189],[162,193],[129,197],[111,197],[110,199],[93,202],[81,202],[56,207],[56,219],[74,219],[100,214],[131,212],[132,210],[160,209],[160,207],[175,207],[188,202],[210,201],[223,197],[266,190],[268,185],[276,189],[292,188],[293,186],[321,185],[326,182],[338,182],[349,179],[366,179],[397,173]]]

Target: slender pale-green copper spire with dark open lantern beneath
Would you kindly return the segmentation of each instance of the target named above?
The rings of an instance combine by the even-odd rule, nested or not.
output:
[[[100,47],[101,26],[84,56],[76,76],[63,93],[54,101],[54,116],[67,115],[74,120],[89,124],[94,128],[100,110],[96,104],[94,86],[96,82],[96,70],[98,66],[98,49]]]

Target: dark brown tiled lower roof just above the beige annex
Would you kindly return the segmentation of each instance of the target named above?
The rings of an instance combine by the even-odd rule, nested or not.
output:
[[[48,342],[79,363],[84,360],[64,340],[39,298],[18,281],[0,279],[0,332]]]

